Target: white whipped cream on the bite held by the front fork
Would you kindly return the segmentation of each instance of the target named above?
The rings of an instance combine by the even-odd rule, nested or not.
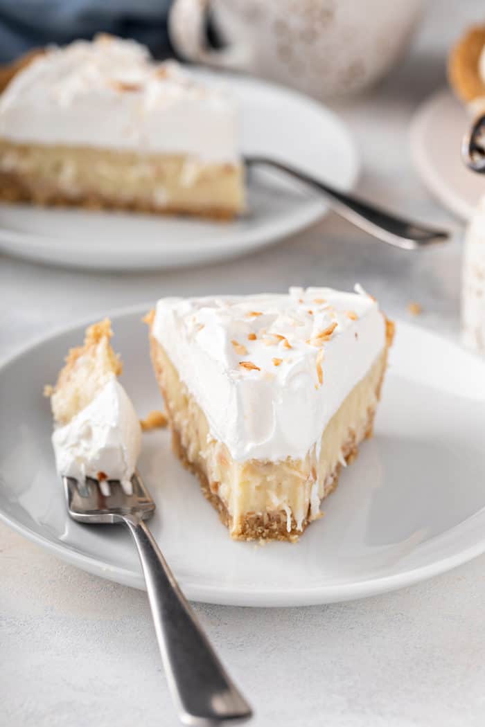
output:
[[[67,425],[52,434],[57,472],[84,481],[103,475],[131,492],[141,427],[126,391],[114,377]]]

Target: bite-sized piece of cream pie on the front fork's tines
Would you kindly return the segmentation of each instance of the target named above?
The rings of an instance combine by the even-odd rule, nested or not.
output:
[[[121,362],[110,345],[110,321],[87,329],[84,345],[73,348],[55,387],[47,387],[56,428],[52,435],[57,471],[103,489],[108,479],[131,491],[141,446],[141,427],[118,381]],[[107,494],[107,493],[106,493]]]

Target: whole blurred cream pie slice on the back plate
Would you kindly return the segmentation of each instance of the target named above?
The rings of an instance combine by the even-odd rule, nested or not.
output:
[[[0,198],[233,217],[236,107],[135,41],[49,48],[0,97]]]

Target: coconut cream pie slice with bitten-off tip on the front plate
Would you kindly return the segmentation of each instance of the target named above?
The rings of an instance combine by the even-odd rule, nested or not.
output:
[[[164,298],[148,323],[175,451],[231,537],[296,539],[372,433],[393,325],[329,288]]]

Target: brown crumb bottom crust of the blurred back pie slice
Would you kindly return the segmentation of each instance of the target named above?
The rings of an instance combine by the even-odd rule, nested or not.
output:
[[[183,217],[202,217],[207,220],[228,222],[234,220],[238,212],[218,206],[199,206],[188,209],[183,206],[158,206],[141,201],[124,201],[92,192],[82,196],[69,196],[59,190],[45,188],[42,192],[34,190],[20,174],[0,172],[0,201],[12,204],[28,203],[44,207],[78,207],[90,210],[118,210],[119,212],[141,212],[145,214],[180,215]]]

